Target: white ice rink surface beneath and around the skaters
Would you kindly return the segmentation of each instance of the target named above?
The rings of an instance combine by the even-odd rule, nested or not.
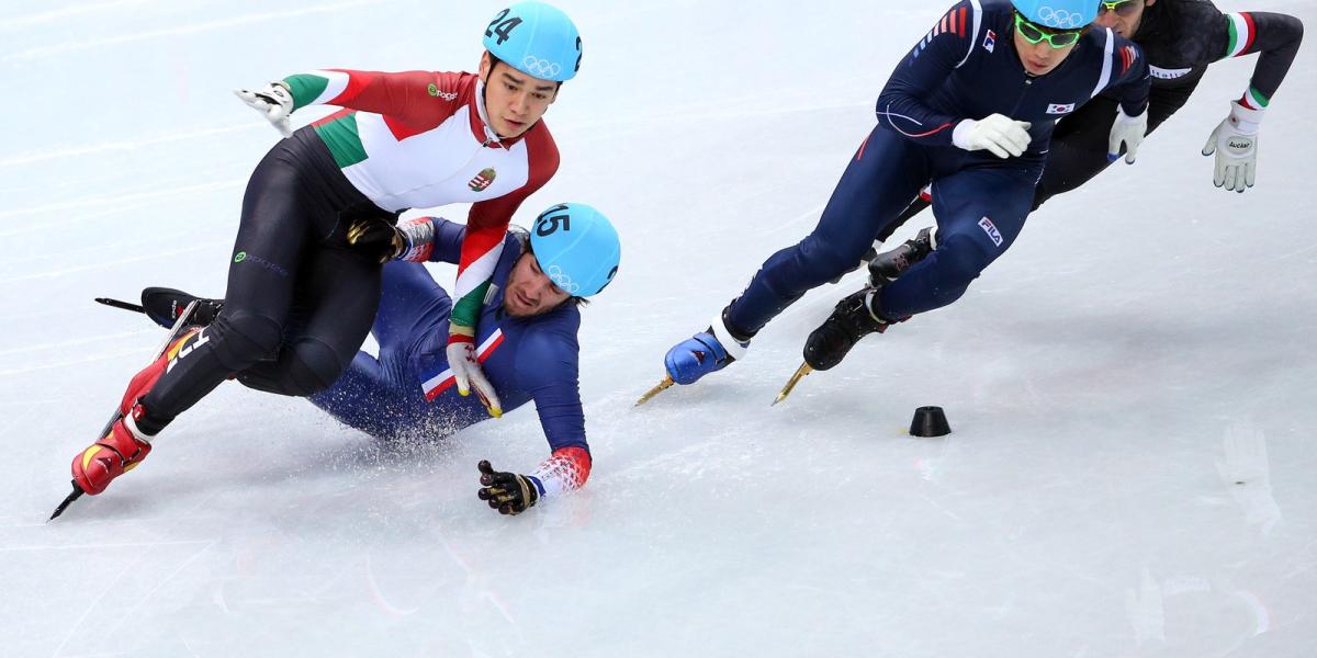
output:
[[[1317,25],[1314,0],[1218,5]],[[0,655],[1317,655],[1310,36],[1247,193],[1216,190],[1198,150],[1251,57],[1213,66],[1135,166],[1033,216],[963,300],[785,404],[859,275],[632,408],[813,228],[944,7],[562,0],[582,71],[547,116],[562,168],[518,221],[586,201],[623,237],[582,330],[587,487],[516,519],[475,499],[477,461],[547,455],[531,408],[378,445],[230,383],[46,525],[161,336],[92,297],[224,292],[278,138],[229,89],[473,70],[500,7],[0,7]],[[905,434],[927,404],[954,434]]]

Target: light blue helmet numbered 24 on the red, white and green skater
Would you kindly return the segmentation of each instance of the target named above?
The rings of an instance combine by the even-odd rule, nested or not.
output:
[[[494,16],[485,50],[541,80],[566,82],[581,70],[581,34],[568,14],[544,3],[516,3]]]

